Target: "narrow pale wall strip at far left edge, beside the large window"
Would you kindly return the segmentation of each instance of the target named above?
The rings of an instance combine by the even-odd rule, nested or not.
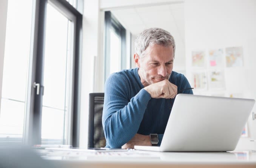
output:
[[[6,20],[7,20],[7,7],[8,0],[0,1],[0,96],[2,95],[2,82],[3,82],[3,60],[5,56],[5,33],[6,33]],[[0,99],[1,108],[1,99]]]

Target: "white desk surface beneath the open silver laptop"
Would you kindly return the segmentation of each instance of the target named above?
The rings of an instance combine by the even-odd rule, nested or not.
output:
[[[82,152],[41,151],[42,158],[70,168],[167,168],[242,167],[256,168],[256,153],[229,152]]]

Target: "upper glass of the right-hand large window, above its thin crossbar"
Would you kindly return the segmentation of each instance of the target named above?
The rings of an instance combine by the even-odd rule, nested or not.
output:
[[[68,19],[47,6],[43,105],[65,109]]]

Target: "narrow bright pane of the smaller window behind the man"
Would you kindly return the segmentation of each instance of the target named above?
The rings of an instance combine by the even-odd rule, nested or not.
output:
[[[120,37],[110,29],[110,74],[121,70],[120,49]]]

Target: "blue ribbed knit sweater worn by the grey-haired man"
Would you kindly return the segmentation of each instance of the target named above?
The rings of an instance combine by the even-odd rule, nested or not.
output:
[[[190,88],[180,73],[173,71],[169,81],[178,92]],[[174,99],[151,98],[143,88],[137,68],[113,73],[106,80],[102,116],[106,147],[121,148],[136,133],[156,133],[161,144]],[[182,93],[193,94],[191,89]]]

